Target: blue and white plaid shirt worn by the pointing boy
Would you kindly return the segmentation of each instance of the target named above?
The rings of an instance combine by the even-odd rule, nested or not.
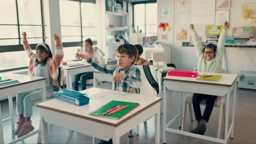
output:
[[[118,65],[107,65],[98,63],[95,59],[88,59],[88,63],[92,65],[92,67],[97,70],[106,73],[116,75],[118,73],[125,73],[126,77],[120,83],[113,82],[113,90],[121,91],[121,92],[129,92],[129,93],[139,93],[141,87],[141,71],[135,66],[135,64],[131,64],[130,67],[125,70],[121,70]]]

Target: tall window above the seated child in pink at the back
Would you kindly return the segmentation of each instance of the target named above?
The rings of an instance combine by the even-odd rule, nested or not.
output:
[[[74,53],[82,47],[84,40],[91,38],[96,44],[95,14],[95,3],[60,1],[62,43],[65,47],[63,61],[74,59]]]

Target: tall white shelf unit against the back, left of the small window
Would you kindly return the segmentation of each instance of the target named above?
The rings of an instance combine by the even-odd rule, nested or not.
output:
[[[119,3],[123,1],[118,1]],[[127,2],[127,13],[119,13],[115,11],[106,11],[106,1],[101,1],[101,46],[105,53],[106,63],[116,64],[115,56],[117,55],[115,49],[117,46],[123,44],[121,42],[107,43],[108,35],[119,35],[126,32],[130,37],[132,32],[132,10],[131,3]],[[114,27],[109,27],[112,25]],[[124,27],[124,28],[123,28]],[[113,42],[114,40],[112,40]]]

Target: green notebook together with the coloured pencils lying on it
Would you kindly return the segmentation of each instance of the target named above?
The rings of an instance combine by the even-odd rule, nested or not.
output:
[[[115,107],[118,107],[118,106],[119,106],[119,110],[117,110],[118,108],[115,109]],[[103,105],[100,108],[98,108],[96,111],[91,112],[90,115],[119,119],[138,106],[139,106],[139,103],[112,100],[106,105]]]

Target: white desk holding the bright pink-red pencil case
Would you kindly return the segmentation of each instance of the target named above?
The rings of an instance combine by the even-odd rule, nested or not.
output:
[[[172,133],[197,137],[204,140],[219,142],[219,143],[227,143],[228,137],[231,133],[231,138],[234,136],[234,122],[235,122],[235,104],[236,104],[236,79],[238,75],[233,74],[214,74],[214,73],[203,73],[210,75],[223,75],[222,79],[218,82],[209,82],[209,81],[199,81],[193,77],[180,77],[180,76],[166,76],[164,77],[164,143],[166,142],[166,131],[170,131]],[[170,89],[172,91],[180,91],[179,96],[181,97],[181,92],[192,92],[192,93],[202,93],[202,94],[210,94],[210,95],[218,95],[220,97],[225,97],[226,101],[226,111],[225,111],[225,136],[223,139],[216,139],[210,136],[203,136],[198,134],[189,133],[187,131],[181,131],[177,129],[168,128],[170,124],[174,121],[174,119],[179,117],[179,126],[181,126],[181,109],[182,109],[182,98],[180,98],[180,107],[179,114],[174,117],[170,122],[166,124],[166,91]],[[229,103],[230,103],[230,93],[234,91],[234,101],[232,108],[232,122],[230,124],[230,128],[228,129],[229,122]]]

